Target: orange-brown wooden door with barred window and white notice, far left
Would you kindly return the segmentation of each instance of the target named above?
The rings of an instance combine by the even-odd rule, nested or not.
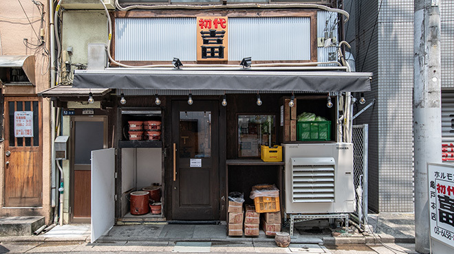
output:
[[[38,97],[5,97],[6,207],[42,206],[41,107],[41,99]],[[19,112],[22,112],[22,116]]]

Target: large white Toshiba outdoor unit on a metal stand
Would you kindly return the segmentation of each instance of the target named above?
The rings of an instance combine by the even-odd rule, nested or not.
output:
[[[285,213],[354,210],[352,143],[284,144]]]

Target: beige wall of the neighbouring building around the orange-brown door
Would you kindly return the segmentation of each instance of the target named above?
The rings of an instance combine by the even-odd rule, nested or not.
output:
[[[0,55],[34,55],[36,57],[36,86],[6,87],[2,86],[5,96],[10,95],[36,95],[49,87],[50,83],[50,56],[45,54],[44,49],[49,51],[49,19],[47,1],[41,1],[44,5],[43,32],[45,44],[36,36],[40,35],[41,7],[40,10],[32,1],[2,0],[0,8]],[[30,23],[29,20],[30,19]],[[36,32],[36,34],[35,34]],[[32,49],[25,47],[23,39],[27,38]],[[45,222],[50,220],[50,102],[43,99],[43,206],[33,209],[5,209],[4,204],[4,143],[0,143],[0,216],[45,216]],[[3,133],[4,135],[4,133]],[[4,137],[4,136],[3,136]]]

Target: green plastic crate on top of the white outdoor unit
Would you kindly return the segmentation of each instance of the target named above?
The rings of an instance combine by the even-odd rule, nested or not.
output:
[[[331,140],[331,121],[297,122],[296,140],[298,141]]]

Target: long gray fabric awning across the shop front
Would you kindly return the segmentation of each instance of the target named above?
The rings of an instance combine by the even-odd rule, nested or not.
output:
[[[106,69],[78,70],[78,88],[219,91],[219,94],[306,91],[370,91],[372,73],[292,69]]]

